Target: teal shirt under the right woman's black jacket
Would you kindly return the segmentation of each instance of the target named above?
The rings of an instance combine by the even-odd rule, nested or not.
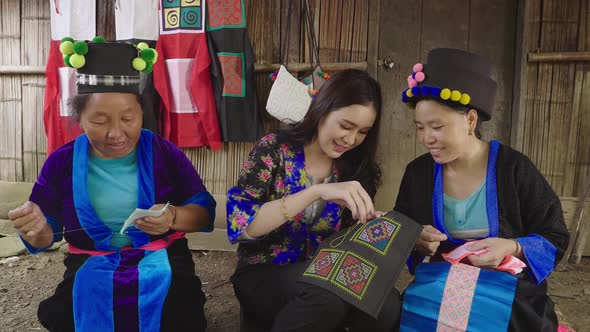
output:
[[[486,210],[486,181],[466,199],[444,195],[445,227],[454,239],[475,239],[489,235]]]

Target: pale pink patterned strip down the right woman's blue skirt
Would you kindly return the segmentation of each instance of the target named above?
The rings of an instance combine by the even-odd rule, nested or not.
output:
[[[479,277],[479,268],[466,264],[453,264],[445,284],[437,332],[466,331]]]

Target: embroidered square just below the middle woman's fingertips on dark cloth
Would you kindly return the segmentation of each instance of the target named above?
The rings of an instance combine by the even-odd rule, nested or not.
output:
[[[401,225],[397,221],[382,217],[360,228],[352,240],[385,255],[400,227]]]

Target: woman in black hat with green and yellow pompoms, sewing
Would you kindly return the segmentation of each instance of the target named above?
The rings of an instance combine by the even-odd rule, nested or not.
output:
[[[39,320],[50,331],[203,331],[205,296],[184,234],[211,229],[215,201],[178,148],[141,129],[140,71],[157,53],[71,39],[61,50],[77,68],[70,106],[84,134],[48,157],[30,200],[10,212],[31,253],[62,235],[69,244]],[[136,208],[160,213],[123,231]]]

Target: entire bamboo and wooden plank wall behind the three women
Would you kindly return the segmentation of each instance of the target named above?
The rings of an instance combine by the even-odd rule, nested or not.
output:
[[[493,56],[501,108],[484,127],[485,137],[510,142],[531,157],[558,194],[576,196],[590,167],[590,64],[523,61],[515,68],[514,57],[519,45],[526,52],[590,50],[588,1],[522,0],[518,16],[518,4],[512,0],[311,0],[321,61],[366,61],[384,87],[380,207],[391,207],[403,167],[422,152],[411,117],[397,96],[411,65],[441,46]],[[287,4],[245,0],[248,33],[260,64],[280,61]],[[294,12],[300,9],[301,0],[295,0]],[[98,0],[97,15],[97,34],[113,39],[114,2]],[[294,17],[288,60],[306,62],[304,26]],[[516,29],[517,22],[522,31]],[[49,0],[0,1],[0,68],[44,67],[49,26]],[[515,40],[521,35],[522,40]],[[377,66],[378,58],[389,56],[396,60],[393,71]],[[257,75],[261,109],[272,83],[267,75]],[[34,181],[45,160],[44,82],[40,73],[0,75],[0,180]],[[265,128],[276,127],[267,116]],[[224,194],[252,146],[230,143],[217,152],[185,152],[209,190]]]

